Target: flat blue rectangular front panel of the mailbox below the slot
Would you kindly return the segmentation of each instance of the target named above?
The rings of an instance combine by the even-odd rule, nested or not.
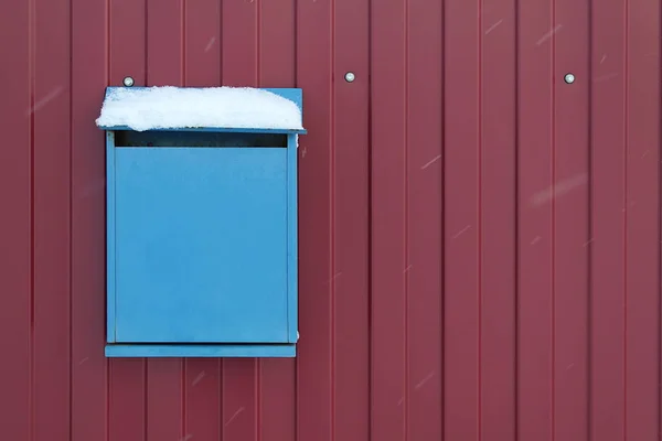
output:
[[[115,149],[115,342],[288,342],[287,149]]]

